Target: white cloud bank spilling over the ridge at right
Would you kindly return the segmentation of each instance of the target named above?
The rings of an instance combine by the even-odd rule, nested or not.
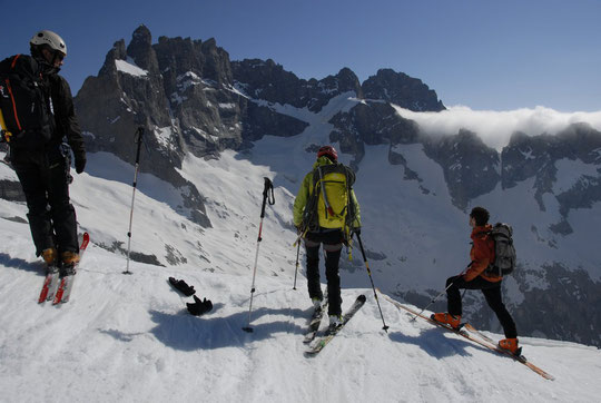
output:
[[[463,128],[476,132],[489,147],[497,150],[509,144],[514,131],[529,136],[555,135],[578,122],[587,122],[601,131],[601,111],[560,112],[545,107],[494,111],[473,110],[465,106],[450,107],[441,112],[414,112],[396,106],[395,109],[430,135],[456,135]]]

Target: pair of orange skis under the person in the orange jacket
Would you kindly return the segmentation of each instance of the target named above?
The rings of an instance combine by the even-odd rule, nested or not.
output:
[[[383,294],[384,295],[384,294]],[[413,311],[412,308],[405,306],[405,305],[402,305],[401,303],[398,303],[397,301],[394,301],[393,298],[391,298],[390,296],[387,295],[384,295],[384,297],[386,298],[386,301],[388,301],[391,304],[393,304],[394,306],[396,306],[397,308],[400,309],[404,309],[406,311],[408,314],[411,314],[412,316],[414,317],[420,317],[435,326],[439,326],[439,327],[442,327],[444,330],[447,330],[450,332],[453,332],[455,334],[459,334],[460,336],[462,337],[465,337],[467,338],[469,341],[471,342],[474,342],[483,347],[486,347],[493,352],[496,352],[499,354],[502,354],[502,355],[505,355],[505,356],[509,356],[511,358],[513,358],[514,361],[521,363],[521,364],[524,364],[525,366],[528,366],[530,370],[532,370],[533,372],[535,372],[536,374],[541,375],[542,377],[544,377],[545,380],[550,380],[550,381],[553,381],[555,377],[549,373],[546,373],[545,371],[541,370],[540,367],[538,367],[536,365],[532,364],[530,361],[528,361],[523,355],[521,354],[513,354],[511,353],[510,351],[508,350],[504,350],[504,348],[501,348],[499,347],[494,341],[487,336],[484,336],[482,333],[477,332],[472,325],[470,325],[469,323],[464,323],[460,326],[460,328],[453,328],[449,325],[445,325],[445,324],[442,324],[440,322],[436,322],[434,321],[433,318],[431,317],[427,317],[425,315],[421,315],[420,313]],[[474,337],[472,336],[472,334],[470,334],[470,332],[472,332],[472,334],[476,334],[477,336],[482,337],[482,338],[479,338],[479,337]]]

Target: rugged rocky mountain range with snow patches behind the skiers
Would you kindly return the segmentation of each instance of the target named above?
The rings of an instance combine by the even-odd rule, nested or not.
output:
[[[277,236],[265,245],[287,254],[286,264],[264,269],[274,276],[293,269],[294,194],[317,147],[334,144],[357,171],[362,237],[384,292],[424,306],[469,263],[467,212],[482,205],[493,222],[514,227],[519,269],[503,287],[520,334],[601,345],[595,128],[515,132],[502,147],[469,130],[426,132],[404,116],[444,106],[418,79],[384,69],[361,83],[342,69],[302,80],[272,60],[230,61],[215,40],[161,37],[152,45],[145,27],[127,48],[116,42],[76,105],[90,150],[87,173],[110,184],[89,191],[110,200],[106,193],[119,189],[117,202],[102,206],[111,225],[95,228],[96,244],[109,252],[125,249],[120,214],[129,208],[140,125],[147,128],[140,197],[168,206],[169,218],[137,213],[155,229],[135,233],[134,258],[165,266],[208,262],[227,274],[248,269],[256,234],[242,229],[256,229],[264,176],[274,179],[278,199],[266,219]],[[14,180],[0,177],[4,198],[19,198]],[[89,219],[99,214],[89,210]],[[354,249],[343,262],[343,286],[364,287],[363,267]],[[470,322],[500,331],[480,293],[465,298]],[[434,308],[444,309],[444,302]]]

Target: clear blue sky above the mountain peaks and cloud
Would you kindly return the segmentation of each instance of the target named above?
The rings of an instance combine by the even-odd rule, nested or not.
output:
[[[593,0],[0,0],[0,56],[28,52],[39,29],[69,55],[79,90],[119,39],[146,24],[159,36],[215,38],[233,60],[272,58],[300,78],[348,67],[422,79],[447,106],[601,110],[601,1]]]

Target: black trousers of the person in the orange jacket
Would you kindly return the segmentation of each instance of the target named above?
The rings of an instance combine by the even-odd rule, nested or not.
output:
[[[453,283],[453,285],[449,287],[451,283]],[[499,322],[501,322],[501,326],[503,326],[503,331],[505,332],[505,337],[518,337],[515,322],[513,322],[513,318],[508,312],[508,308],[505,308],[505,304],[503,304],[503,299],[501,297],[501,282],[493,283],[482,277],[476,277],[471,282],[466,282],[462,276],[455,276],[449,277],[446,281],[446,286],[449,287],[449,289],[446,289],[447,307],[451,315],[462,314],[461,288],[481,289],[482,294],[484,294],[484,298],[486,298],[486,303],[491,309],[494,311]]]

